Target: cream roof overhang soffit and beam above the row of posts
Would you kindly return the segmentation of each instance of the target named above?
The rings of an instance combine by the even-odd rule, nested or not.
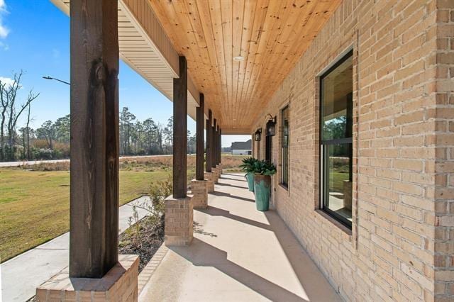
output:
[[[70,16],[70,0],[50,1]],[[173,79],[179,74],[179,55],[148,2],[144,1],[142,6],[134,6],[133,2],[118,0],[118,45],[121,60],[172,101]],[[200,102],[199,91],[190,74],[187,86],[187,113],[195,121],[196,107]]]

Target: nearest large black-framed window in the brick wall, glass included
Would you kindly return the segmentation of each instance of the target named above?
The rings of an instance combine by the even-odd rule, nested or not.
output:
[[[320,81],[321,208],[344,225],[352,225],[353,52],[329,69]]]

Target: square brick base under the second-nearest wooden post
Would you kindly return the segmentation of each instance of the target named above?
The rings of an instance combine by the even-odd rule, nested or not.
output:
[[[194,222],[192,195],[186,198],[165,198],[165,245],[189,245],[192,242]]]

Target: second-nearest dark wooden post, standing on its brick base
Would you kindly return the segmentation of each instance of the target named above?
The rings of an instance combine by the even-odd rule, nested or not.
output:
[[[179,57],[179,78],[173,79],[173,198],[187,193],[187,61]]]

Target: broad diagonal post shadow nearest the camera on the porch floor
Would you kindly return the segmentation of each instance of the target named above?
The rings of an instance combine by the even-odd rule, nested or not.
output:
[[[194,238],[191,247],[170,247],[178,255],[184,257],[198,267],[214,267],[223,274],[260,293],[271,301],[307,301],[291,291],[268,281],[267,279],[240,267],[227,259],[227,252]]]

